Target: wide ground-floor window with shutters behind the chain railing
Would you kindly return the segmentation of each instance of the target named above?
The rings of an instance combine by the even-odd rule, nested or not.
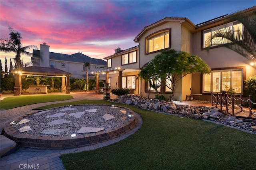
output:
[[[236,93],[242,93],[242,69],[215,70],[203,77],[204,92],[227,91],[232,88]]]

